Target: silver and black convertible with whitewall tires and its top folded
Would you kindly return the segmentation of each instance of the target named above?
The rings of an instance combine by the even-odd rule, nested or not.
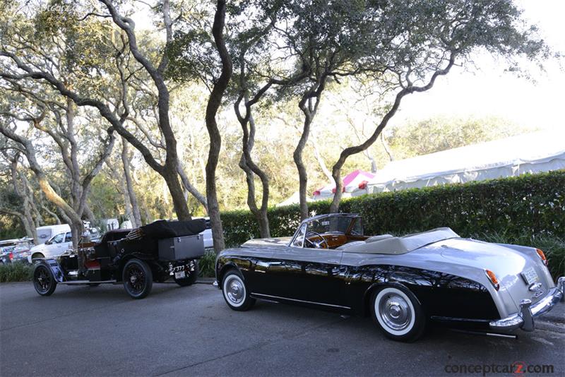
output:
[[[383,333],[416,340],[429,321],[505,333],[564,300],[539,249],[462,239],[449,228],[365,236],[361,217],[318,215],[294,236],[226,249],[216,280],[231,309],[256,299],[374,318]]]

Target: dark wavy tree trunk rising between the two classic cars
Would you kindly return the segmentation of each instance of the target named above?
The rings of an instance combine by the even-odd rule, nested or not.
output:
[[[232,77],[232,59],[225,47],[223,37],[225,3],[225,0],[218,0],[214,23],[212,25],[212,35],[216,48],[218,49],[218,54],[220,54],[220,59],[222,60],[222,73],[218,80],[216,80],[208,99],[208,105],[206,106],[206,128],[210,136],[210,149],[208,150],[208,162],[206,163],[206,198],[208,201],[208,215],[210,216],[210,224],[212,225],[214,251],[216,253],[225,249],[225,241],[222,220],[220,219],[218,193],[216,192],[216,167],[218,166],[222,137],[220,136],[220,130],[218,129],[215,116],[218,113],[218,109],[222,103],[222,97]]]

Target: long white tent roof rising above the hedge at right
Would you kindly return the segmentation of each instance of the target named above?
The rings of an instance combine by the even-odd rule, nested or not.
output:
[[[542,131],[390,162],[370,193],[565,169],[565,130]]]

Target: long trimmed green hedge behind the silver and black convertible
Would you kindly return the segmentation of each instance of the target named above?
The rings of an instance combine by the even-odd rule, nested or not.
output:
[[[328,213],[329,206],[330,201],[319,201],[309,210]],[[565,171],[377,193],[344,200],[340,210],[362,215],[365,234],[451,227],[462,237],[565,239]],[[300,222],[298,205],[270,208],[268,217],[273,237],[292,235]],[[224,212],[222,223],[228,246],[259,236],[249,211]]]

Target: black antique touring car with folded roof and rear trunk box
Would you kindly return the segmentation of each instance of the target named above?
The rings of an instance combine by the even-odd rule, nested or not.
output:
[[[49,296],[57,284],[100,285],[123,283],[133,299],[143,299],[153,282],[173,277],[191,285],[198,276],[198,258],[204,255],[203,219],[159,220],[136,229],[107,232],[98,243],[83,240],[78,250],[56,259],[36,260],[33,285]]]

